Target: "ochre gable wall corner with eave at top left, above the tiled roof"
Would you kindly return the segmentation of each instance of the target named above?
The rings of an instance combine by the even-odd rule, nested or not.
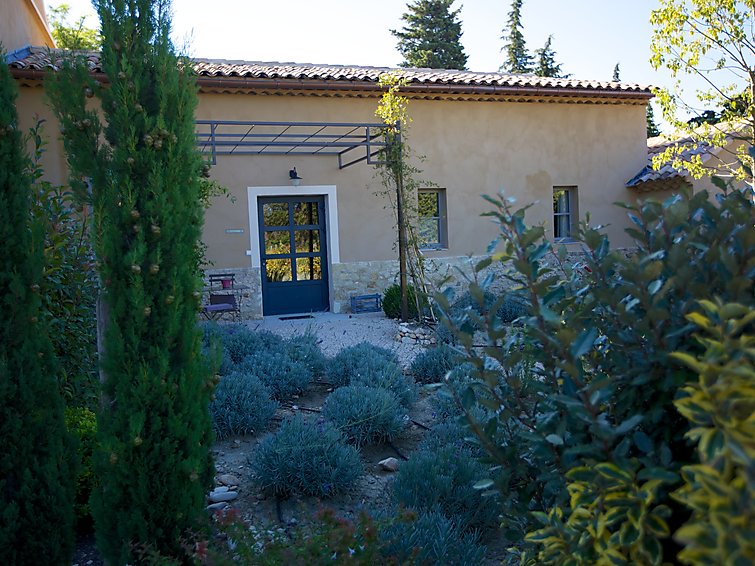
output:
[[[0,41],[6,52],[27,45],[54,47],[43,0],[0,0]]]

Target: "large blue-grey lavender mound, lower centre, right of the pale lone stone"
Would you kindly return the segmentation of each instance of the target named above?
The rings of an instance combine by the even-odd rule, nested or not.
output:
[[[489,475],[463,446],[418,450],[399,468],[393,497],[416,511],[439,510],[464,531],[489,527],[497,522],[499,502],[473,487]]]

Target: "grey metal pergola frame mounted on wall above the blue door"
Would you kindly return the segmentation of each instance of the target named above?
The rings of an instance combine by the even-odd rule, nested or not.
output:
[[[386,147],[386,124],[366,122],[258,122],[237,120],[197,120],[197,146],[218,155],[335,155],[338,168],[374,159]],[[364,154],[354,157],[354,151]]]

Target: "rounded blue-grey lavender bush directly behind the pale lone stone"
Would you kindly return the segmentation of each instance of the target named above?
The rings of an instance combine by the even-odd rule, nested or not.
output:
[[[404,428],[406,412],[390,391],[349,385],[328,396],[322,415],[359,447],[393,440]]]

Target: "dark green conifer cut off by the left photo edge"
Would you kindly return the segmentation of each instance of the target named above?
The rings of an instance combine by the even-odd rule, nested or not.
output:
[[[75,451],[40,312],[44,235],[15,100],[0,64],[0,564],[70,564]]]

